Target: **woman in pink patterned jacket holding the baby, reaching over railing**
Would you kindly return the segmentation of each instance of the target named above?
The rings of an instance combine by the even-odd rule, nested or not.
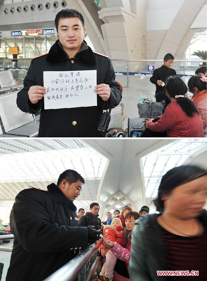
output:
[[[123,248],[117,242],[103,241],[104,246],[106,249],[110,249],[111,252],[116,256],[118,259],[125,261],[127,269],[130,259],[130,248],[131,248],[131,235],[132,229],[135,225],[135,220],[140,217],[140,214],[137,212],[128,212],[125,216],[125,224],[126,228],[124,229],[124,240],[127,243],[126,248]],[[130,279],[119,275],[116,271],[114,271],[114,281],[128,281]]]

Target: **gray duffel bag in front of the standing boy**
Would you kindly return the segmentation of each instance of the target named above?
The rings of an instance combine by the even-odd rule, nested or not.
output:
[[[143,99],[143,102],[137,104],[139,117],[153,118],[162,115],[163,104],[152,101],[152,99]]]

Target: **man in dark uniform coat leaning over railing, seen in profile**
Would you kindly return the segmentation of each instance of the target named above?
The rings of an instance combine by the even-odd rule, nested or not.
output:
[[[25,189],[10,215],[14,246],[6,281],[42,281],[88,245],[100,231],[79,227],[73,201],[84,179],[65,170],[47,190]]]

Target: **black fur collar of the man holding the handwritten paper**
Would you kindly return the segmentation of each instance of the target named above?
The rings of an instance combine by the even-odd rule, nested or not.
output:
[[[84,43],[86,44],[85,41],[84,41]],[[46,61],[48,63],[58,63],[58,62],[64,62],[66,59],[68,59],[68,55],[60,47],[59,40],[57,40],[55,42],[55,44],[52,45],[52,47],[50,48]],[[89,46],[88,46],[88,49],[77,53],[74,60],[82,62],[82,63],[90,65],[90,66],[95,66],[95,64],[96,64],[95,55]]]

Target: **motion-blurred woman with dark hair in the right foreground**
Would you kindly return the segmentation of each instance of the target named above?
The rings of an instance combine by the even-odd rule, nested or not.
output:
[[[207,276],[207,171],[183,165],[169,170],[161,179],[154,200],[160,214],[147,214],[135,222],[129,262],[131,281],[168,280],[158,271],[185,275],[196,270],[190,280]],[[194,274],[194,272],[192,272]],[[170,280],[186,280],[171,276]]]

